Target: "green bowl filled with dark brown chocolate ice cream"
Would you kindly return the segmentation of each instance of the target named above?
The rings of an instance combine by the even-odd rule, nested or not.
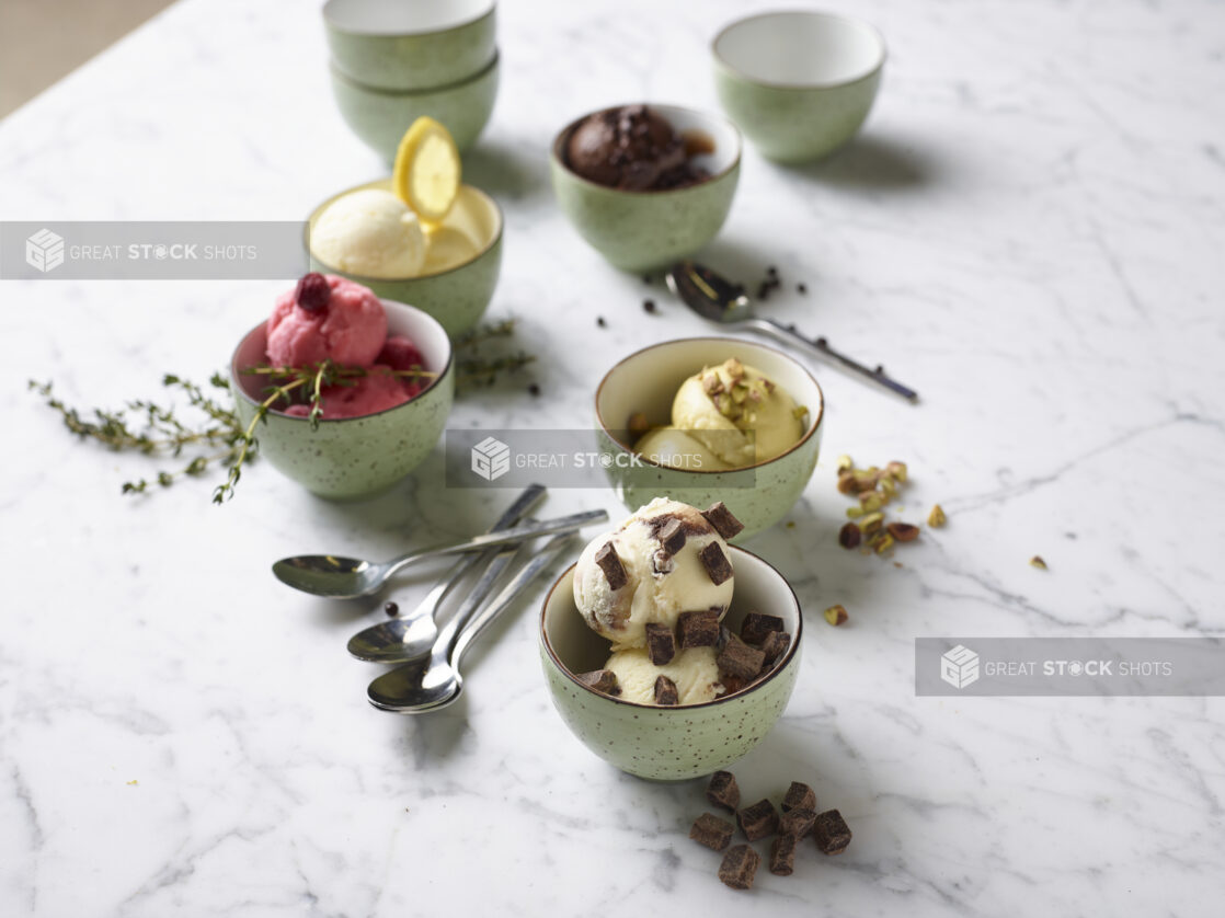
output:
[[[653,271],[719,233],[740,177],[740,133],[679,105],[617,105],[557,133],[554,193],[578,234],[614,267]]]

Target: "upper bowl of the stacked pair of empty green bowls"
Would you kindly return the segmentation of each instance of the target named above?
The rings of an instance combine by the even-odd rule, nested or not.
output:
[[[458,83],[494,59],[494,0],[328,0],[323,27],[336,66],[376,89]]]

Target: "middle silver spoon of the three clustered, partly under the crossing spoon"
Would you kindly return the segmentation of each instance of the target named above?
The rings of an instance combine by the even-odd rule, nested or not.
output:
[[[442,605],[443,597],[454,588],[464,574],[473,567],[486,564],[480,579],[473,589],[464,596],[456,617],[467,619],[494,586],[494,581],[514,557],[517,545],[503,545],[500,548],[490,548],[480,554],[469,554],[459,564],[447,572],[447,579],[440,581],[430,590],[430,595],[410,616],[405,618],[393,618],[390,622],[380,622],[371,628],[358,632],[349,639],[349,654],[358,660],[371,663],[407,663],[418,657],[425,656],[439,638],[439,625],[436,612]],[[475,562],[475,563],[473,563]],[[459,568],[463,567],[463,570]],[[445,588],[445,589],[440,589]],[[432,603],[426,610],[426,602]]]

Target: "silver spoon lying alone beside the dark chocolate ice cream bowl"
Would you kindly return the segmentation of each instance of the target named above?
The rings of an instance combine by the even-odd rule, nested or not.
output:
[[[666,280],[668,288],[704,319],[723,326],[751,328],[782,344],[800,346],[824,362],[849,370],[877,386],[883,386],[910,403],[919,401],[919,393],[897,379],[889,378],[883,366],[870,370],[858,360],[835,351],[824,338],[809,339],[795,330],[795,326],[784,326],[772,318],[755,316],[752,301],[745,295],[744,288],[715,274],[703,264],[687,261],[677,262],[668,269]]]

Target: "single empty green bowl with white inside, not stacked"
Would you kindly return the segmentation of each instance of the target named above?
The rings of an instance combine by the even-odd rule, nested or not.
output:
[[[767,12],[714,39],[723,110],[780,163],[820,159],[855,136],[876,99],[884,40],[866,22],[826,12]]]

